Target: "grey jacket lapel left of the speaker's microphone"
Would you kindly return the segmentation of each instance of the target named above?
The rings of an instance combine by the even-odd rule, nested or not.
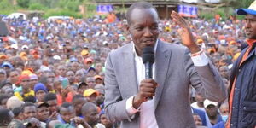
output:
[[[131,96],[137,94],[138,92],[138,84],[137,84],[137,75],[136,75],[136,67],[135,67],[135,59],[134,59],[134,54],[132,52],[133,50],[133,45],[132,43],[129,44],[128,49],[125,49],[123,51],[123,57],[124,58],[119,58],[120,61],[124,61],[124,71],[125,71],[125,83],[128,84],[129,88],[127,88],[129,93],[132,93]]]

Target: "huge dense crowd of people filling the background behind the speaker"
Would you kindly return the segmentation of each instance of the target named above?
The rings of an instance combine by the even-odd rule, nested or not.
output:
[[[86,20],[3,21],[9,26],[9,36],[0,44],[0,126],[119,127],[104,112],[104,66],[110,51],[131,43],[127,20],[108,23],[95,16]],[[196,44],[218,67],[228,89],[232,63],[246,40],[244,22],[188,21]],[[178,28],[172,20],[160,20],[160,40],[182,45]],[[224,125],[227,101],[209,101],[193,88],[190,94],[197,126]]]

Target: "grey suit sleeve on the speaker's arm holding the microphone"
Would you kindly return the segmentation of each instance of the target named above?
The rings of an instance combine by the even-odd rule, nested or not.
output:
[[[106,73],[105,73],[105,112],[108,119],[111,122],[121,121],[128,119],[131,121],[130,116],[126,111],[126,101],[123,99],[119,85],[117,82],[116,74],[113,69],[113,61],[111,60],[111,53],[108,55],[106,61]]]

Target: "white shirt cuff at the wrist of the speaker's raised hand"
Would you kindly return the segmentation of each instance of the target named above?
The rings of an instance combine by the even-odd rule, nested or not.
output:
[[[190,56],[195,67],[203,67],[209,63],[207,55],[202,50]]]

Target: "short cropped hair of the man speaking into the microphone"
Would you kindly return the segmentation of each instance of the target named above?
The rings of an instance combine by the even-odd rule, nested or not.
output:
[[[133,3],[129,9],[126,12],[126,19],[128,22],[128,25],[131,24],[131,13],[133,9],[154,9],[156,11],[156,9],[154,8],[154,6],[151,3],[147,3],[147,2],[138,2],[138,3]]]

